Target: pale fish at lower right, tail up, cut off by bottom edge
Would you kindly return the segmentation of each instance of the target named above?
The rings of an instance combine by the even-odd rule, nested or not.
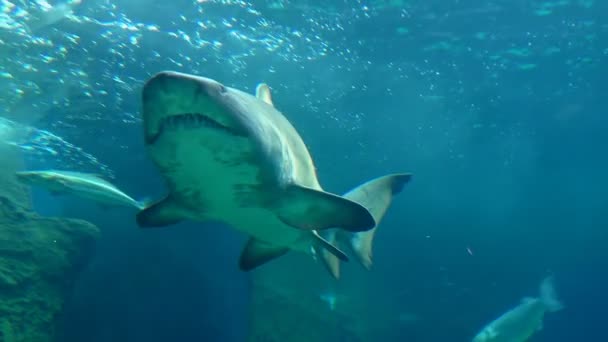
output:
[[[521,304],[507,311],[484,327],[473,342],[525,342],[543,328],[546,312],[563,309],[553,288],[553,278],[547,277],[540,285],[540,297],[522,299]]]

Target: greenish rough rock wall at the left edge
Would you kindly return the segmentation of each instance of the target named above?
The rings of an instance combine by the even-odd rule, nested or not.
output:
[[[0,142],[0,341],[55,341],[63,304],[92,256],[99,230],[41,217],[14,177],[19,150]]]

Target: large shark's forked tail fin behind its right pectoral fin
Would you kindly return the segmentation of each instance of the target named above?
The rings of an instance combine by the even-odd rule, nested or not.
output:
[[[344,197],[367,208],[376,221],[376,226],[368,231],[348,234],[350,247],[366,268],[372,267],[372,247],[374,236],[380,221],[392,203],[393,197],[399,194],[412,178],[408,173],[396,173],[372,179],[344,194]]]

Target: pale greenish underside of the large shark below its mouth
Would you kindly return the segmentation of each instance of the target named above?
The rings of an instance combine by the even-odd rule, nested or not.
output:
[[[310,232],[284,224],[264,207],[272,196],[268,192],[271,186],[261,184],[260,179],[272,177],[263,175],[260,165],[252,162],[250,146],[202,148],[198,141],[202,137],[197,134],[181,137],[179,143],[171,138],[165,137],[152,155],[191,219],[221,221],[272,245],[310,249]]]

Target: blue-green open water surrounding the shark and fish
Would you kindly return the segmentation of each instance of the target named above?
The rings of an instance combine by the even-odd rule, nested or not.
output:
[[[246,237],[222,225],[143,230],[132,209],[32,188],[38,214],[100,231],[52,318],[57,341],[470,341],[547,275],[565,309],[534,341],[608,341],[608,2],[0,4],[0,141],[22,168],[160,198],[141,89],[175,70],[250,93],[268,83],[328,191],[413,174],[373,269],[351,262],[337,282],[298,255],[243,273]],[[259,296],[256,272],[274,272],[265,291],[284,302]]]

